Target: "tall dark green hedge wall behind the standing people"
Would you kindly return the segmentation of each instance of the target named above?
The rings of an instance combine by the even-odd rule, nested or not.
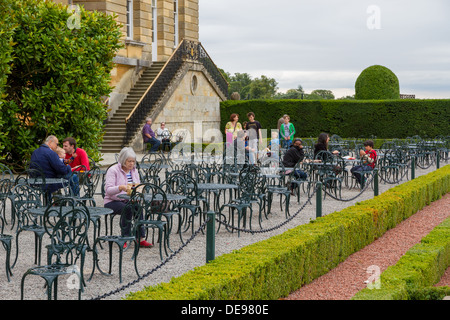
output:
[[[434,138],[450,135],[450,99],[445,100],[228,100],[221,103],[221,130],[232,113],[248,121],[253,111],[264,129],[277,128],[289,114],[296,137],[317,137],[320,132],[343,138]]]

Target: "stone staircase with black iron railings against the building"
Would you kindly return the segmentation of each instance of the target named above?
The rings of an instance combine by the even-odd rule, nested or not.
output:
[[[167,62],[153,63],[130,90],[125,101],[105,126],[102,153],[120,152],[132,145],[145,118],[162,111],[180,80],[194,66],[201,69],[221,100],[228,98],[228,83],[199,42],[183,40]]]

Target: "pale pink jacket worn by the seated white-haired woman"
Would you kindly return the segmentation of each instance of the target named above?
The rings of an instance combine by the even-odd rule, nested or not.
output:
[[[133,182],[140,183],[139,173],[135,168],[131,170],[131,177],[133,178]],[[123,199],[118,198],[119,194],[126,194],[124,191],[119,191],[120,185],[127,185],[128,179],[127,174],[122,169],[122,165],[120,163],[112,166],[106,172],[105,179],[105,198],[103,199],[103,204],[107,204],[111,201],[123,201]]]

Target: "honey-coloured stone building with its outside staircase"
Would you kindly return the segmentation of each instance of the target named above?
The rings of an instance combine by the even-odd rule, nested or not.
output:
[[[115,14],[123,25],[125,46],[114,58],[114,89],[105,97],[103,153],[143,150],[147,117],[153,130],[164,121],[172,139],[217,141],[228,83],[199,42],[199,0],[54,1]]]

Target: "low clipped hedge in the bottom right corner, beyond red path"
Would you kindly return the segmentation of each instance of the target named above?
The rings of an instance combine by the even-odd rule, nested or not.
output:
[[[450,218],[434,228],[380,276],[380,288],[365,288],[353,300],[437,300],[450,287],[431,287],[450,265]]]

